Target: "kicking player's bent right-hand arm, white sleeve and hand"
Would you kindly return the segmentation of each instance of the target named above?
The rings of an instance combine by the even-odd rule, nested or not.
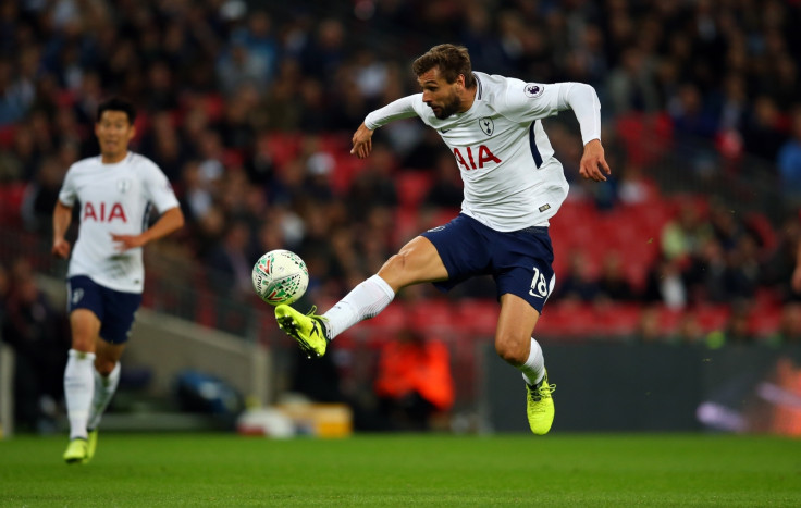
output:
[[[584,141],[584,153],[581,156],[579,174],[584,179],[605,182],[612,174],[601,145],[601,102],[595,89],[583,83],[563,83],[559,88],[559,102],[566,104],[576,114]]]

